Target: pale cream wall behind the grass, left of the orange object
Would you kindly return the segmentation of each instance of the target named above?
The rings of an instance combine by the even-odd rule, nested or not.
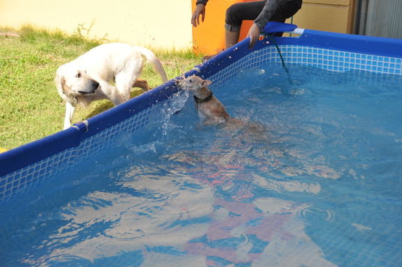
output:
[[[0,0],[0,26],[24,23],[73,33],[83,24],[102,38],[143,46],[192,46],[190,0]],[[83,31],[85,33],[85,31]]]

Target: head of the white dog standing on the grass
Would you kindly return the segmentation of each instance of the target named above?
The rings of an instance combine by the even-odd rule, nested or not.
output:
[[[67,63],[58,67],[54,80],[58,94],[74,106],[78,104],[78,97],[95,94],[99,83],[90,78],[79,65]]]

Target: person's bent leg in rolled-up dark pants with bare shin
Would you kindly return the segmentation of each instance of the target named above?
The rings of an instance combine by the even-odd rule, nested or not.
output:
[[[254,20],[261,13],[266,1],[234,3],[226,10],[225,18],[225,49],[239,42],[240,29],[243,20]]]

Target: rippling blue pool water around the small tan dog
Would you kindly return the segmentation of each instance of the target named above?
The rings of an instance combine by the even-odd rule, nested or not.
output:
[[[401,76],[281,65],[214,82],[3,207],[2,266],[402,266]]]

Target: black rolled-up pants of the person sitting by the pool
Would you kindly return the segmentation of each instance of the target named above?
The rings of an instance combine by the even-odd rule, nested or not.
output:
[[[252,1],[244,3],[234,3],[226,10],[225,29],[227,31],[240,31],[243,20],[255,20],[262,12],[266,1]],[[295,15],[301,7],[301,1],[288,2],[280,6],[273,13],[271,22],[284,22],[289,17]]]

